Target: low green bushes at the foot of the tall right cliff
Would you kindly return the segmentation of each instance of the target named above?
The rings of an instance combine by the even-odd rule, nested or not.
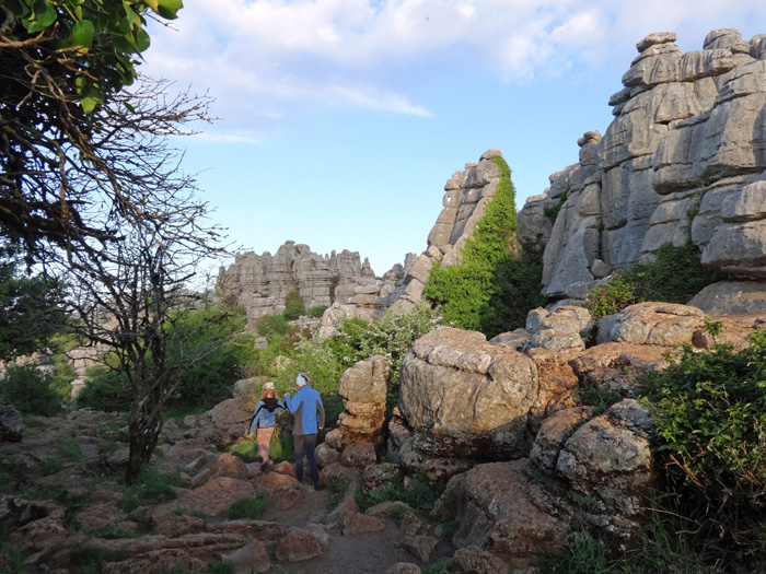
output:
[[[707,285],[726,274],[700,263],[693,244],[662,245],[651,263],[636,263],[616,271],[604,286],[588,294],[588,309],[594,319],[617,313],[642,301],[687,303]]]

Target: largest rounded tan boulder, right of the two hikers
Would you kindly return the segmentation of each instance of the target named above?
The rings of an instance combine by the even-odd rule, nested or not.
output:
[[[537,399],[536,371],[531,359],[479,332],[439,327],[403,361],[402,414],[430,457],[520,456]]]

